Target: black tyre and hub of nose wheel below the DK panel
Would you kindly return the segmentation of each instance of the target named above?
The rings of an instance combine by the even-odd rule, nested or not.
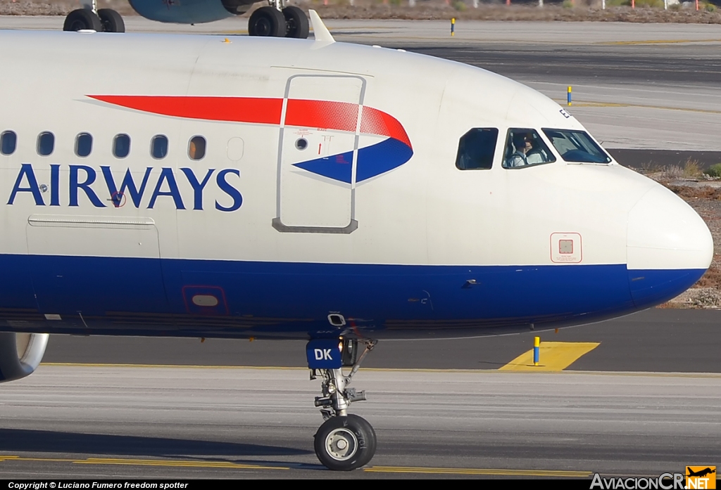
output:
[[[371,462],[376,431],[363,417],[331,417],[316,432],[314,449],[320,462],[334,471],[351,471]]]

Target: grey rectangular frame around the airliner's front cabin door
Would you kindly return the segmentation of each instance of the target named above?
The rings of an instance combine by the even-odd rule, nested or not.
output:
[[[355,137],[353,142],[353,162],[350,176],[350,222],[345,227],[319,227],[319,226],[288,226],[280,219],[280,179],[283,172],[283,138],[286,132],[286,109],[288,96],[291,93],[291,83],[295,78],[355,78],[361,81],[361,94],[358,97],[358,120],[355,122]],[[275,189],[275,217],[273,228],[282,233],[340,233],[348,235],[358,229],[355,219],[355,173],[358,166],[358,144],[361,137],[361,118],[363,117],[363,101],[366,99],[366,79],[357,75],[293,75],[286,82],[286,93],[283,96],[283,109],[280,112],[280,134],[278,137],[278,173]]]

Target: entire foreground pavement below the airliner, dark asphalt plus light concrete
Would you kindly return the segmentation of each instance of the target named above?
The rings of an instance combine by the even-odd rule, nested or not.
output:
[[[379,449],[350,475],[313,453],[319,381],[304,342],[53,336],[37,373],[0,386],[0,478],[588,478],[715,465],[720,320],[651,309],[558,333],[380,342],[353,381],[368,401],[352,407]],[[567,371],[497,370],[535,335],[599,345]]]

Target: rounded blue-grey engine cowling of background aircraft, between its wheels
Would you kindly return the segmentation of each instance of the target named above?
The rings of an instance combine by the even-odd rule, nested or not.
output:
[[[174,24],[203,24],[244,14],[253,0],[130,0],[133,9],[146,19]]]

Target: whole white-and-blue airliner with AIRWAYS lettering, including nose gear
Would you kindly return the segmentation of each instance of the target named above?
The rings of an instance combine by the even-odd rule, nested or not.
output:
[[[377,340],[596,322],[708,268],[698,214],[546,96],[311,17],[314,41],[0,33],[2,381],[49,333],[306,339],[314,448],[350,470]]]

